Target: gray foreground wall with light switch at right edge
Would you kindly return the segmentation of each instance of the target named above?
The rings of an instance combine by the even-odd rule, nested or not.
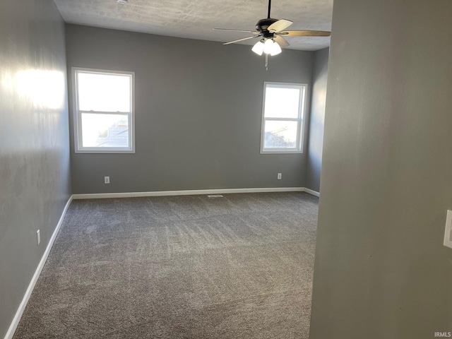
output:
[[[452,331],[451,13],[335,1],[311,339]]]

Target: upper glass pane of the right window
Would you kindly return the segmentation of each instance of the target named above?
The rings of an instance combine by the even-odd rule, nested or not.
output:
[[[298,118],[300,88],[266,86],[264,117]]]

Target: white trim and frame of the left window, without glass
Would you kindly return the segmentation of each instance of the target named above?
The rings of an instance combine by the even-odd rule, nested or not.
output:
[[[78,110],[78,95],[77,95],[77,71],[104,73],[104,74],[126,74],[131,76],[131,112],[129,116],[129,141],[130,147],[81,147],[82,129],[81,113],[86,111]],[[72,67],[72,101],[73,101],[73,139],[75,153],[135,153],[135,72],[129,71],[112,71],[107,69],[86,69],[82,67]],[[91,111],[88,111],[91,112]],[[115,112],[97,112],[105,114],[117,114]],[[124,114],[122,112],[121,114]],[[80,147],[79,147],[80,145]]]

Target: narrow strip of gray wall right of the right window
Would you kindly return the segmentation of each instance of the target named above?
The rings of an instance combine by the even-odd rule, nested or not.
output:
[[[328,52],[329,48],[325,48],[314,53],[314,68],[312,70],[312,100],[311,118],[309,122],[306,187],[316,192],[320,190],[326,80],[328,78]]]

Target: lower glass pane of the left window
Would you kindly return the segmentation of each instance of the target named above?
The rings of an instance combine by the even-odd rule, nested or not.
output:
[[[129,147],[126,114],[82,114],[82,147]]]

